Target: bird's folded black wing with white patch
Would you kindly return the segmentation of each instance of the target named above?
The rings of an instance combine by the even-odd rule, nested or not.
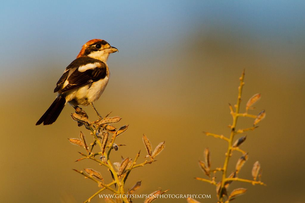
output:
[[[79,57],[66,68],[63,76],[57,82],[54,92],[63,93],[103,79],[106,75],[105,63],[87,56]]]

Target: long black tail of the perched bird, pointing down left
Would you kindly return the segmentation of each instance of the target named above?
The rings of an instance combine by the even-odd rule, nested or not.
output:
[[[48,110],[41,116],[37,121],[36,125],[40,125],[42,122],[44,125],[50,125],[56,121],[60,112],[63,110],[63,107],[66,104],[65,97],[59,95],[55,101],[51,104]]]

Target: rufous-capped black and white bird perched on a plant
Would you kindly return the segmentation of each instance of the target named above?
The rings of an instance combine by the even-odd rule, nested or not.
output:
[[[106,62],[109,54],[116,51],[118,49],[105,40],[93,39],[84,44],[58,80],[54,89],[58,95],[36,125],[54,123],[67,103],[74,108],[90,104],[101,118],[93,102],[99,99],[106,88],[110,74]]]

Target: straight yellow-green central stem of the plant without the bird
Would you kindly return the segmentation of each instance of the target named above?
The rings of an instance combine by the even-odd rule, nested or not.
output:
[[[242,71],[242,76],[239,78],[240,79],[240,85],[238,87],[238,98],[237,98],[237,103],[235,105],[235,112],[232,111],[233,109],[231,109],[231,114],[233,117],[233,124],[231,125],[231,133],[230,133],[230,139],[228,141],[228,150],[226,153],[226,158],[224,161],[224,167],[223,167],[223,171],[222,171],[222,181],[221,181],[221,189],[224,188],[224,184],[225,184],[225,179],[227,177],[227,170],[228,170],[228,163],[229,163],[229,159],[231,156],[231,151],[232,151],[232,144],[233,144],[233,139],[234,139],[234,135],[235,135],[235,128],[236,128],[236,124],[237,124],[237,119],[238,119],[238,115],[239,115],[239,107],[240,107],[240,102],[241,102],[241,98],[242,98],[242,87],[244,86],[244,77],[245,77],[245,69]],[[223,202],[223,197],[221,196],[219,199],[220,202]]]

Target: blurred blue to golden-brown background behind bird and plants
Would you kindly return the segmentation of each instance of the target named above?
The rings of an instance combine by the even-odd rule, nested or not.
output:
[[[2,1],[0,3],[0,199],[1,202],[83,202],[98,188],[72,169],[94,168],[80,158],[67,138],[80,131],[66,106],[50,126],[35,126],[56,97],[53,89],[64,69],[88,40],[117,47],[108,65],[111,78],[95,106],[102,115],[129,124],[117,138],[120,155],[135,157],[143,133],[153,147],[165,141],[158,161],[132,171],[126,187],[142,180],[137,194],[158,188],[167,194],[210,194],[215,187],[198,160],[210,148],[213,167],[221,167],[227,143],[203,131],[228,136],[228,103],[236,103],[246,68],[242,110],[255,93],[262,99],[251,113],[266,110],[242,149],[249,159],[239,177],[251,179],[260,161],[264,186],[247,188],[238,202],[303,202],[305,115],[304,1]],[[96,119],[91,107],[84,107]],[[253,120],[240,118],[238,128]],[[229,172],[241,156],[235,152]],[[220,177],[217,174],[217,177]],[[107,194],[107,193],[102,193]],[[134,202],[142,202],[134,199]],[[104,202],[96,197],[91,202]],[[155,202],[186,202],[159,199]]]

